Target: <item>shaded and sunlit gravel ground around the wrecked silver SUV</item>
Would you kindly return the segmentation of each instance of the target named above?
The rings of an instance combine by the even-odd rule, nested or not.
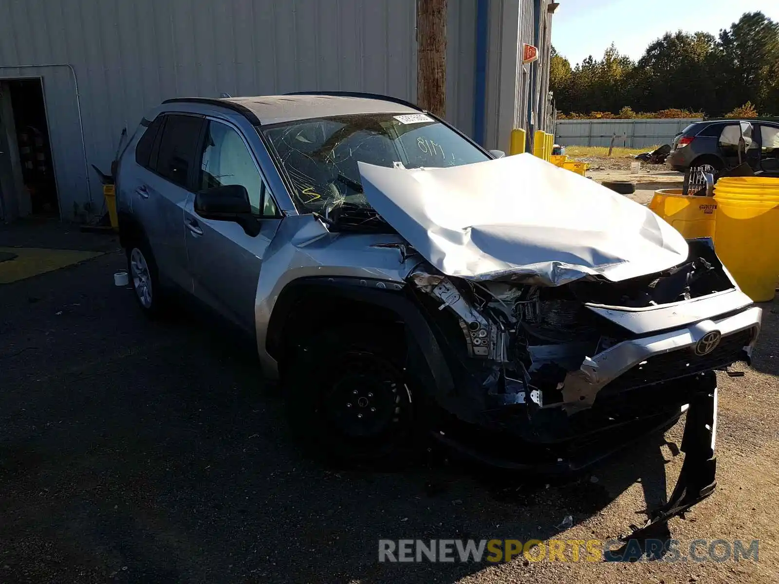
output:
[[[720,376],[717,492],[671,522],[682,547],[759,538],[759,563],[390,565],[379,538],[625,533],[675,481],[681,424],[549,487],[438,459],[328,470],[292,445],[249,344],[195,311],[147,321],[112,285],[123,266],[113,252],[0,287],[4,584],[779,581],[776,301],[754,368]]]

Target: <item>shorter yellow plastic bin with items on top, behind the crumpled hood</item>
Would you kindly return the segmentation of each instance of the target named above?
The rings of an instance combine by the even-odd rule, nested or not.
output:
[[[714,237],[717,220],[714,197],[685,196],[681,188],[663,188],[654,192],[649,208],[685,239]]]

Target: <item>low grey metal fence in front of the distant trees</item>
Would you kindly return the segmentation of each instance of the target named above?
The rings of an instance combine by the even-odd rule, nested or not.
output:
[[[675,135],[701,118],[648,120],[558,120],[555,142],[562,146],[615,146],[643,148],[670,144]],[[626,137],[623,137],[626,136]]]

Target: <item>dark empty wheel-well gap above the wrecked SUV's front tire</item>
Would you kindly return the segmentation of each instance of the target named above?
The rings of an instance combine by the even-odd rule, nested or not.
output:
[[[277,361],[294,354],[308,336],[344,325],[382,325],[404,347],[404,322],[400,315],[369,300],[318,285],[293,286],[282,292],[268,323],[266,347]]]

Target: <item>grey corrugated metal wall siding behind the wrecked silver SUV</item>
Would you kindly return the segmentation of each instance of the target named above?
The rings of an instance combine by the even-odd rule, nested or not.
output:
[[[470,131],[474,2],[450,4],[447,117]],[[5,0],[0,77],[43,78],[70,219],[74,203],[102,204],[97,178],[87,192],[82,150],[107,171],[122,128],[132,133],[169,97],[360,90],[414,100],[415,17],[414,0]],[[53,63],[76,77],[65,66],[6,66]]]

